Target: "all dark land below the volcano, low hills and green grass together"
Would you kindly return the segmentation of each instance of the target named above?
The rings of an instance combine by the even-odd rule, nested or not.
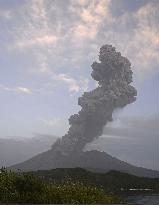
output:
[[[0,170],[0,203],[120,203],[130,194],[159,194],[159,178],[82,168],[25,173]]]

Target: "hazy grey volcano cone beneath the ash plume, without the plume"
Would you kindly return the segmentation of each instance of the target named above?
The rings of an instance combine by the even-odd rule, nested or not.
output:
[[[23,163],[14,165],[10,167],[10,169],[32,171],[73,167],[86,168],[87,170],[97,172],[118,170],[136,176],[159,177],[158,171],[133,166],[114,158],[105,152],[99,151],[86,151],[82,153],[72,153],[70,155],[61,155],[58,152],[49,150]]]

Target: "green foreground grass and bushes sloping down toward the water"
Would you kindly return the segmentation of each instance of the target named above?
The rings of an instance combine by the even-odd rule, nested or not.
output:
[[[0,173],[1,203],[91,204],[120,203],[119,197],[103,189],[67,180],[62,184],[45,182],[27,173]]]

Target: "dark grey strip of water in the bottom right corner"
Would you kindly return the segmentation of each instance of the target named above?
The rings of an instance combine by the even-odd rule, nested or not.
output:
[[[159,205],[159,195],[151,196],[130,196],[127,201],[139,205]]]

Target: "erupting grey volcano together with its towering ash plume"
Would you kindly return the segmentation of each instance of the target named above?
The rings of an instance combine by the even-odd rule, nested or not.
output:
[[[103,133],[113,120],[112,114],[136,100],[137,91],[131,85],[130,61],[112,45],[103,45],[99,61],[93,62],[91,76],[98,87],[78,99],[81,110],[69,118],[68,132],[58,139],[52,149],[11,168],[24,171],[82,167],[90,170],[125,171],[138,176],[159,176],[159,172],[138,168],[98,151],[84,152],[85,146]]]

